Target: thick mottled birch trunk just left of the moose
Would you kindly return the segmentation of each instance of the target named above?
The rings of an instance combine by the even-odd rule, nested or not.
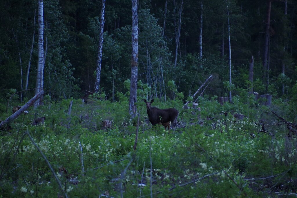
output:
[[[131,56],[131,80],[129,114],[131,118],[136,116],[137,107],[137,73],[138,73],[138,5],[137,0],[132,0],[132,56]]]

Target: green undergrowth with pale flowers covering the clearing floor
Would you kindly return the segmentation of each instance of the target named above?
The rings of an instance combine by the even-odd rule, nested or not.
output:
[[[69,102],[45,97],[43,106],[30,109],[10,123],[9,130],[1,131],[0,197],[57,197],[64,196],[63,191],[68,197],[278,197],[296,193],[296,137],[288,138],[286,127],[277,125],[271,114],[282,107],[280,101],[265,107],[239,97],[224,105],[216,98],[200,98],[198,110],[183,109],[179,100],[155,99],[155,106],[175,107],[180,112],[178,128],[170,134],[163,126],[152,129],[144,103],[138,102],[136,150],[138,117],[129,118],[128,102],[83,104],[73,100],[68,115]],[[235,113],[244,119],[234,118]],[[8,114],[3,111],[1,120]],[[32,126],[35,114],[45,116],[45,123]],[[104,120],[112,121],[110,128],[102,127]],[[260,120],[266,132],[261,132]],[[25,132],[49,161],[63,191]]]

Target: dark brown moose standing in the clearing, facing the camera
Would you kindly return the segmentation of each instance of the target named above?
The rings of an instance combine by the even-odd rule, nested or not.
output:
[[[170,121],[174,128],[177,127],[178,110],[175,108],[158,109],[157,107],[152,107],[151,103],[154,102],[154,99],[152,99],[151,102],[146,102],[146,99],[144,99],[143,102],[146,103],[146,112],[148,113],[149,121],[152,126],[162,124],[165,130],[166,127],[168,127],[168,133],[170,132]]]

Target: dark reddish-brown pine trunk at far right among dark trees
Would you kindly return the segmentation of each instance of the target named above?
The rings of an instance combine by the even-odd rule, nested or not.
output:
[[[264,82],[268,82],[268,45],[269,45],[269,28],[270,28],[270,14],[271,14],[271,1],[268,0],[268,10],[267,10],[267,19],[266,19],[266,31],[265,31],[265,45],[264,45],[264,57],[263,57],[263,79]],[[266,84],[266,92],[268,91],[268,84]]]

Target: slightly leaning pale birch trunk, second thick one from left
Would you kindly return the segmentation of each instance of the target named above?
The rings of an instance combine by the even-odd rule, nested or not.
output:
[[[99,36],[99,47],[98,47],[98,58],[96,68],[96,81],[94,92],[98,92],[100,88],[100,75],[101,75],[101,62],[102,62],[102,48],[103,48],[103,30],[104,30],[104,13],[105,13],[105,0],[102,0],[101,9],[101,20],[100,20],[100,36]]]

